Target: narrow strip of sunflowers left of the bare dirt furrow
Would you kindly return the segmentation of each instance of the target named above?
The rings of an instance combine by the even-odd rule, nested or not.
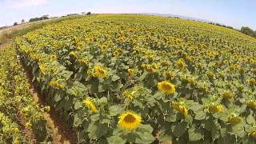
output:
[[[44,107],[34,102],[26,74],[18,61],[13,46],[0,53],[0,133],[1,143],[29,143],[23,131],[27,127],[34,133],[36,142],[50,142],[50,132],[43,118]]]

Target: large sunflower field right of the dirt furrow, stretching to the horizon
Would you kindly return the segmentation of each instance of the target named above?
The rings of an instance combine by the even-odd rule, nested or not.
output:
[[[238,31],[99,14],[34,30],[14,48],[78,142],[255,143],[256,39]]]

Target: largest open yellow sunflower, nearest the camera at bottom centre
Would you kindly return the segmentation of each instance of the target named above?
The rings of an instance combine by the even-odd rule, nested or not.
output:
[[[126,130],[134,130],[142,122],[142,117],[133,111],[126,111],[122,113],[118,118],[118,125]]]

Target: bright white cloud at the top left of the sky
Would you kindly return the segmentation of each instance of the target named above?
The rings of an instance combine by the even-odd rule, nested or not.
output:
[[[20,9],[31,6],[41,6],[47,2],[48,0],[6,0],[6,6],[13,9]]]

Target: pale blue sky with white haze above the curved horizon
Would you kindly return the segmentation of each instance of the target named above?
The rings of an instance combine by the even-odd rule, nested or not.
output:
[[[256,30],[255,0],[0,0],[0,26],[44,14],[92,13],[179,14]]]

